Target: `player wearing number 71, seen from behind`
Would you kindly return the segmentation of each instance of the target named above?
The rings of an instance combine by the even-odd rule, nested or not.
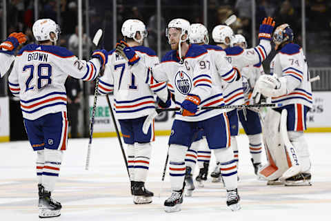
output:
[[[142,126],[155,108],[154,93],[157,93],[158,100],[161,98],[164,102],[170,93],[165,82],[158,82],[152,76],[142,79],[139,77],[141,71],[132,72],[129,69],[139,59],[148,67],[159,64],[154,50],[142,46],[143,39],[147,37],[144,23],[137,19],[128,19],[123,23],[121,32],[126,46],[131,47],[137,56],[126,61],[115,50],[110,51],[106,70],[99,80],[99,92],[106,94],[114,90],[114,110],[127,146],[133,202],[146,204],[152,202],[153,196],[146,189],[145,182],[152,153],[151,142],[154,141],[154,122],[147,135],[143,133]]]

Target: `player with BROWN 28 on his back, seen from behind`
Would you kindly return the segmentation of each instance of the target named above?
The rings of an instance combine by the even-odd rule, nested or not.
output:
[[[61,214],[61,204],[51,193],[59,176],[63,151],[67,148],[67,97],[64,83],[68,75],[92,81],[107,63],[108,52],[95,50],[90,61],[79,60],[66,48],[55,46],[59,26],[51,19],[39,19],[32,27],[38,44],[24,46],[14,60],[8,84],[21,99],[28,139],[37,151],[39,217]]]

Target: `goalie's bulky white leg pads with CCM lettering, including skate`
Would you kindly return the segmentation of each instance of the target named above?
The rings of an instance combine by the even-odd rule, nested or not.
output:
[[[299,154],[288,137],[287,117],[285,108],[281,113],[270,109],[265,116],[263,142],[268,163],[259,169],[258,175],[268,184],[310,185],[310,177],[301,173]]]

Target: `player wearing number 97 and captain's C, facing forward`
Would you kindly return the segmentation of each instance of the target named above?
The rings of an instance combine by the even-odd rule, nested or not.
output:
[[[165,200],[166,212],[181,210],[183,202],[185,154],[192,143],[194,134],[203,128],[208,146],[214,149],[227,189],[227,205],[236,211],[240,209],[237,192],[237,166],[230,148],[228,117],[221,109],[199,110],[199,106],[221,106],[223,95],[212,84],[210,68],[213,66],[208,51],[202,46],[188,44],[190,23],[185,19],[173,19],[168,23],[166,36],[172,48],[152,70],[158,81],[169,81],[174,86],[177,106],[169,140],[169,170],[172,194]],[[130,48],[123,50],[123,56],[132,59]],[[218,58],[219,73],[228,82],[235,81],[240,74],[225,61]],[[132,71],[144,68],[142,62],[132,66]],[[145,67],[146,68],[146,67]]]

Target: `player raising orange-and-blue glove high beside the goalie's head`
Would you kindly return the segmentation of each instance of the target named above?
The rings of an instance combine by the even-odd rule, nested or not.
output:
[[[261,62],[269,55],[271,51],[271,34],[274,29],[274,21],[268,17],[263,19],[259,30],[259,45],[254,48],[243,49],[239,46],[230,47],[231,41],[234,39],[234,33],[229,26],[219,25],[212,30],[212,39],[214,39],[217,46],[223,48],[226,52],[226,59],[232,66],[235,66],[241,71],[245,66],[261,64]],[[243,82],[237,81],[237,84],[223,83],[224,99],[226,105],[240,105],[244,104],[243,96]],[[229,111],[228,117],[230,120],[231,130],[231,144],[234,151],[234,160],[238,163],[239,153],[236,136],[239,133],[239,122],[237,109]],[[253,141],[252,141],[253,142]],[[252,155],[261,155],[261,142],[257,139],[250,144],[250,152]],[[261,159],[261,157],[254,157],[253,159]],[[261,162],[252,161],[254,170],[259,166]],[[219,171],[219,163],[211,174],[213,180],[218,182],[221,180],[221,173]]]

